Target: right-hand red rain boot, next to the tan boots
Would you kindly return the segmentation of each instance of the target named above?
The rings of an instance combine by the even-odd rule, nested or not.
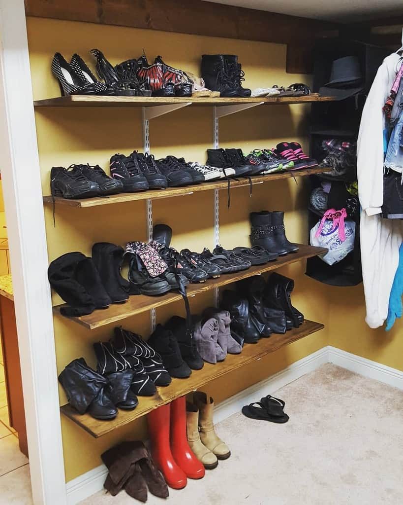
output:
[[[171,401],[171,450],[174,460],[189,479],[201,479],[205,476],[203,463],[194,456],[187,443],[184,396]]]

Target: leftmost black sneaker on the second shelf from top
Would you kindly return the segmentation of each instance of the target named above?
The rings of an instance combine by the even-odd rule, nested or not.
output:
[[[99,194],[99,186],[88,180],[79,167],[72,166],[69,170],[53,167],[50,171],[50,191],[52,196],[63,198],[91,198]]]

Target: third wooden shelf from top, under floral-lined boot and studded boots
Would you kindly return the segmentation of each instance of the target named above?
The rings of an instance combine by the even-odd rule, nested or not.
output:
[[[251,277],[252,275],[260,275],[265,272],[270,272],[271,270],[276,270],[285,265],[289,265],[290,263],[323,254],[324,252],[327,252],[327,249],[323,247],[313,247],[311,245],[300,244],[298,252],[288,254],[287,256],[278,258],[276,261],[271,261],[265,265],[251,267],[248,270],[243,270],[242,272],[234,274],[223,274],[217,279],[209,279],[203,283],[189,284],[186,287],[187,296],[195,296],[198,293],[210,291],[215,287],[225,286],[241,279]],[[130,296],[123,304],[113,304],[107,309],[95,310],[88,316],[72,317],[68,319],[93,330],[95,328],[99,328],[100,326],[116,323],[122,319],[135,316],[136,314],[140,314],[151,309],[156,309],[157,307],[162,307],[163,305],[171,304],[172,302],[181,299],[182,296],[177,291],[170,291],[161,296],[146,296],[144,294],[133,295]],[[54,307],[53,310],[60,313],[60,307],[63,307],[63,305],[58,305],[57,307]]]

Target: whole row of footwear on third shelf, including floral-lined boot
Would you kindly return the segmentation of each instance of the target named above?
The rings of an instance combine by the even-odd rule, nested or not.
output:
[[[51,287],[67,304],[60,312],[67,317],[85,316],[135,294],[156,296],[179,290],[185,298],[189,283],[247,270],[298,251],[287,239],[284,212],[251,213],[250,221],[252,247],[217,245],[213,251],[205,247],[200,253],[188,248],[177,251],[170,245],[172,229],[159,224],[149,243],[127,242],[123,249],[98,242],[92,247],[92,258],[81,252],[66,253],[48,268]],[[122,276],[123,262],[128,265],[127,279]]]

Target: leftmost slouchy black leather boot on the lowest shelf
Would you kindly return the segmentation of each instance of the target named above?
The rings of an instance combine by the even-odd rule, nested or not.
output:
[[[84,358],[69,363],[58,380],[70,405],[79,414],[88,412],[96,419],[113,419],[117,409],[105,392],[107,379],[92,370]]]

